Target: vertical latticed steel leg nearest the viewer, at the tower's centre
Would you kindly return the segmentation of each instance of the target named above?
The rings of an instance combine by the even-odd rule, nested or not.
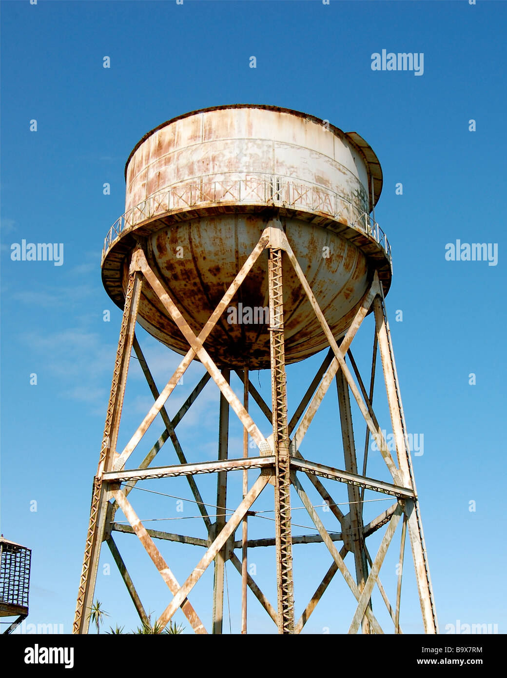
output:
[[[279,633],[294,632],[294,591],[290,502],[289,430],[283,334],[283,283],[281,228],[270,229],[268,260],[273,452],[275,452],[275,538]]]

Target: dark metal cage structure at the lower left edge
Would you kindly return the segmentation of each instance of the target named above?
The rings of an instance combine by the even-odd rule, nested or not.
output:
[[[0,537],[0,616],[18,617],[4,634],[28,616],[31,558],[31,549]]]

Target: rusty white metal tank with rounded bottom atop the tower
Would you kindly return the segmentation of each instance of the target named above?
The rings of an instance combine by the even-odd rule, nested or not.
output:
[[[171,119],[138,142],[125,166],[125,214],[110,228],[102,280],[123,308],[129,254],[148,264],[199,334],[272,218],[287,239],[334,336],[346,332],[373,277],[388,291],[388,241],[370,212],[382,170],[355,132],[275,106],[236,104]],[[205,342],[220,367],[269,367],[264,251]],[[285,361],[327,341],[296,273],[283,264]],[[180,330],[144,283],[138,323],[184,354]]]

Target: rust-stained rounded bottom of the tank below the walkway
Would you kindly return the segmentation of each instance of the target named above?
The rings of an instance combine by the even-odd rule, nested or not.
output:
[[[333,335],[346,332],[367,290],[367,258],[349,240],[296,218],[282,218],[285,235]],[[266,220],[222,214],[166,226],[148,236],[150,268],[196,336],[258,243]],[[126,288],[127,264],[123,271]],[[295,363],[329,345],[287,256],[283,256],[285,361]],[[204,347],[219,367],[270,366],[268,250],[264,250],[222,313]],[[185,354],[188,343],[144,283],[138,322]]]

